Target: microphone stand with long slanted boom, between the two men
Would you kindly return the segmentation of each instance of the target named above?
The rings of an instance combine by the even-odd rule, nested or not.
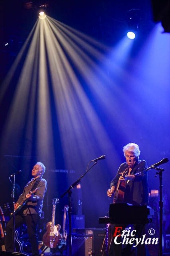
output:
[[[92,162],[92,161],[90,161]],[[90,162],[88,163],[88,166],[90,164]],[[82,174],[80,176],[80,178],[78,180],[76,180],[69,188],[68,190],[66,190],[66,192],[64,192],[64,194],[61,196],[61,198],[63,198],[63,196],[65,196],[65,194],[68,193],[68,218],[69,218],[69,256],[72,256],[72,227],[71,227],[71,211],[72,211],[72,208],[71,208],[71,194],[72,194],[72,191],[71,189],[74,188],[76,185],[78,185],[81,181],[81,179],[86,175],[87,172],[89,172],[94,165],[97,164],[97,160],[95,161],[95,163],[88,169],[88,166],[87,166],[87,170],[84,174]]]

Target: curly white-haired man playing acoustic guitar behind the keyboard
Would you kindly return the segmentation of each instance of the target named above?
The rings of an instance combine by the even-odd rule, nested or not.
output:
[[[127,202],[133,205],[149,205],[148,175],[147,172],[143,172],[147,168],[147,162],[139,160],[140,150],[135,143],[124,146],[123,153],[126,162],[121,164],[115,178],[111,181],[107,196],[113,195],[113,203]],[[121,230],[123,231],[126,226],[124,224],[121,226],[123,226]],[[117,237],[117,242],[120,244],[115,245],[112,239],[109,256],[121,256],[121,236]],[[141,255],[145,256],[144,253]]]

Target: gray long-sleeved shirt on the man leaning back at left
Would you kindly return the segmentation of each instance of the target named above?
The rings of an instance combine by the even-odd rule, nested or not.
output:
[[[43,208],[43,198],[45,192],[47,190],[47,181],[41,177],[37,179],[31,179],[27,185],[24,187],[22,194],[18,198],[17,203],[20,204],[25,198],[26,194],[29,194],[30,190],[33,188],[35,182],[37,182],[37,186],[35,188],[39,188],[34,194],[34,201],[28,200],[25,206],[23,206],[23,214],[26,216],[27,214],[39,214],[41,217],[41,212]],[[35,189],[34,188],[34,189]],[[32,191],[32,190],[31,190]]]

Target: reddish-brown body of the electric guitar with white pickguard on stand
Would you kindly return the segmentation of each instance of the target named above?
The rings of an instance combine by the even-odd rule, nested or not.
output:
[[[59,233],[61,226],[59,224],[55,225],[52,230],[51,224],[51,221],[46,224],[47,232],[43,235],[43,243],[49,248],[55,248],[62,240],[61,234]]]

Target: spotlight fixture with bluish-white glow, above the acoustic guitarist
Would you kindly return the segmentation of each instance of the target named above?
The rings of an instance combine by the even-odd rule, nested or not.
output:
[[[141,11],[140,9],[131,9],[126,14],[128,32],[127,37],[134,39],[139,30],[139,22],[141,20]]]

